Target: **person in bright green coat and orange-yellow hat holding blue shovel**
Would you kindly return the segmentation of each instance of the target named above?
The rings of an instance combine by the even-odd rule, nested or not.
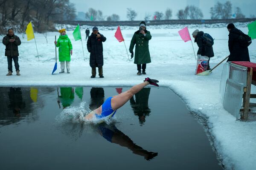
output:
[[[64,73],[65,71],[65,61],[66,61],[66,68],[67,73],[70,73],[70,55],[73,54],[73,47],[69,37],[67,37],[66,29],[59,30],[60,37],[58,38],[57,42],[55,41],[55,45],[58,48],[59,52],[59,61],[61,62],[61,72]]]

